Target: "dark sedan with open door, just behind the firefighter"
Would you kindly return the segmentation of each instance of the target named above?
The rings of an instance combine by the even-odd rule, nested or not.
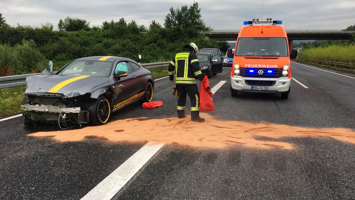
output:
[[[220,54],[213,56],[211,53],[196,53],[198,62],[200,63],[201,72],[206,74],[208,78],[212,75],[222,73],[222,58]]]

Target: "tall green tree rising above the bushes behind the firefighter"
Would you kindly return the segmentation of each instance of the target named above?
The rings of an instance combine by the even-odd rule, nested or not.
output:
[[[193,2],[190,8],[184,5],[181,6],[181,9],[170,7],[169,11],[164,20],[166,28],[180,26],[182,28],[208,29],[202,19],[201,9],[198,8],[197,2]]]

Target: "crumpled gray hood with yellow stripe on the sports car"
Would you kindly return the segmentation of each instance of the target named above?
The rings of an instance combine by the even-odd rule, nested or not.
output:
[[[55,93],[73,97],[90,93],[93,88],[109,80],[108,77],[94,76],[33,75],[26,78],[25,94]]]

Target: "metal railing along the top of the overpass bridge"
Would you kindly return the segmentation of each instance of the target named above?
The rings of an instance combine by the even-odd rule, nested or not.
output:
[[[197,30],[200,34],[237,34],[239,30]],[[353,30],[286,30],[287,33],[355,33]]]

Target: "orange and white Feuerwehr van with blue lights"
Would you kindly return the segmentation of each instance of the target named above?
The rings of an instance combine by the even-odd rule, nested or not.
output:
[[[297,50],[289,52],[286,30],[282,21],[245,21],[241,27],[233,55],[231,95],[238,91],[290,93],[291,62]],[[292,49],[292,48],[291,48]],[[232,54],[228,51],[228,57]]]

